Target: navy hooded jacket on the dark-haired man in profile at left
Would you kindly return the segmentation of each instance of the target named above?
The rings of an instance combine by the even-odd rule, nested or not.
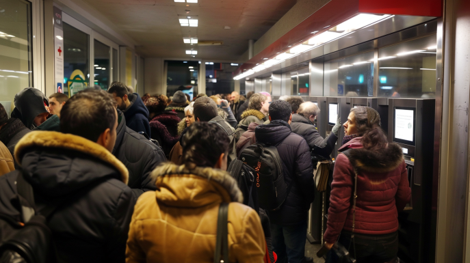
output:
[[[124,116],[126,117],[126,125],[135,132],[143,131],[148,136],[151,136],[150,126],[148,124],[148,109],[145,107],[142,98],[139,94],[133,93],[128,95],[131,105],[125,109]]]

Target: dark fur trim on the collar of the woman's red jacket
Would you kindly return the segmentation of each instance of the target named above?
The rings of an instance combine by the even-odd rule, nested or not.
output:
[[[387,149],[380,152],[373,152],[364,148],[351,149],[349,160],[354,169],[387,173],[402,164],[403,152],[397,143],[389,143]]]

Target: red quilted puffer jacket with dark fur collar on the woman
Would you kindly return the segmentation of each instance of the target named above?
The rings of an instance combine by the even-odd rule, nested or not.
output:
[[[398,230],[398,212],[410,201],[411,189],[400,146],[389,143],[380,152],[363,148],[356,137],[339,148],[331,184],[324,240],[335,243],[341,230],[352,231],[354,170],[357,171],[354,233],[389,234]]]

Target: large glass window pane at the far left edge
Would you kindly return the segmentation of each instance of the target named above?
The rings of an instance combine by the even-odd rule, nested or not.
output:
[[[31,3],[0,1],[0,103],[11,113],[16,93],[32,86]]]

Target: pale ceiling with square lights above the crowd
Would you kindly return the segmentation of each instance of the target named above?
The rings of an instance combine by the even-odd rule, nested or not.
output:
[[[190,58],[185,50],[198,51],[196,59],[232,60],[270,29],[296,0],[84,0],[137,42],[144,57]],[[190,5],[190,6],[186,6]],[[189,14],[187,14],[190,10]],[[198,16],[198,27],[181,27],[178,16]],[[229,26],[231,29],[224,29]],[[221,46],[190,46],[183,37],[199,41],[221,40]]]

